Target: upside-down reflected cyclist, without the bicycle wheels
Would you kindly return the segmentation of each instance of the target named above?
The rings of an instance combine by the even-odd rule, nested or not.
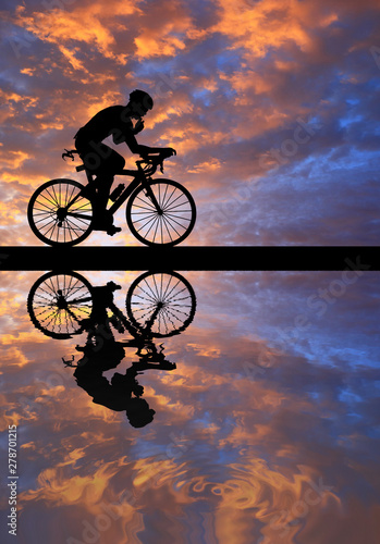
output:
[[[156,348],[150,337],[150,330],[144,334],[131,325],[128,331],[133,334],[133,339],[115,341],[112,329],[120,333],[125,330],[121,319],[114,313],[118,308],[113,304],[113,292],[120,288],[114,282],[93,287],[91,316],[82,320],[82,325],[88,333],[87,342],[85,346],[76,346],[76,350],[83,353],[83,357],[77,361],[74,376],[79,387],[93,397],[95,404],[115,411],[125,410],[131,425],[139,428],[150,423],[156,412],[149,408],[145,399],[140,398],[144,387],[138,384],[137,374],[148,369],[173,370],[176,366],[166,360],[162,345],[159,350]],[[111,318],[108,317],[108,308],[113,311]],[[115,372],[109,381],[102,374],[121,363],[125,357],[125,347],[137,347],[138,361],[134,361],[125,374]]]

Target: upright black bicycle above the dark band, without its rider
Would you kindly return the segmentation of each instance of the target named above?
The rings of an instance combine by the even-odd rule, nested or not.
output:
[[[73,153],[68,151],[62,158]],[[125,187],[120,184],[110,195],[113,202],[106,213],[113,215],[127,200],[125,215],[132,234],[148,246],[174,246],[193,231],[196,206],[191,193],[173,180],[152,180],[164,156],[147,156],[136,161],[137,170],[122,170],[115,175],[132,176]],[[46,182],[32,196],[27,219],[34,234],[50,246],[75,246],[86,239],[97,219],[93,174],[84,164],[88,185],[74,180],[58,178]]]

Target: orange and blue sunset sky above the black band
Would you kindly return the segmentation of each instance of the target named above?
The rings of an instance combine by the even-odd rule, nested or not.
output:
[[[186,245],[377,245],[377,0],[2,0],[0,243],[100,109],[148,91],[138,141],[173,147],[166,176],[198,210]],[[122,146],[118,151],[133,165]],[[124,211],[118,237],[138,244]]]

